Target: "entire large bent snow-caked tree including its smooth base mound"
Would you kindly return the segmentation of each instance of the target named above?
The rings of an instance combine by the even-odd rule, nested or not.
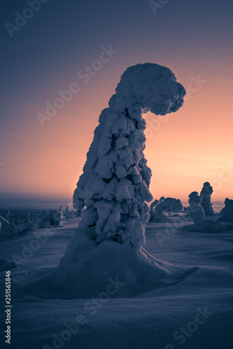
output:
[[[172,71],[137,64],[121,77],[87,154],[73,196],[80,225],[51,274],[27,286],[40,297],[130,297],[177,283],[195,268],[162,262],[142,247],[152,200],[144,148],[143,112],[165,115],[183,105],[186,91]],[[112,285],[117,290],[112,292]]]

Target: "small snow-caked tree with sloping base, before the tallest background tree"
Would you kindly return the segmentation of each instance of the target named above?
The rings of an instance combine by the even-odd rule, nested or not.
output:
[[[195,225],[195,231],[197,232],[225,232],[227,228],[220,222],[216,222],[213,219],[205,219],[204,209],[201,205],[202,196],[193,191],[188,195],[189,204],[188,215],[193,218],[193,223]]]

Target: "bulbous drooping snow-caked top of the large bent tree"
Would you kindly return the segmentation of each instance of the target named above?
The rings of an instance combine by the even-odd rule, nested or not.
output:
[[[120,100],[123,102],[121,107],[128,107],[129,114],[132,112],[130,117],[134,117],[135,112],[142,116],[141,108],[159,115],[176,112],[183,105],[183,97],[186,95],[183,86],[176,82],[172,70],[151,63],[137,64],[126,69],[116,92],[110,98],[110,107],[112,103],[116,107]]]

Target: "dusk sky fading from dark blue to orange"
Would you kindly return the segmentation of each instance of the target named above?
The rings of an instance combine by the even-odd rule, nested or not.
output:
[[[156,15],[143,0],[49,0],[11,38],[6,22],[28,7],[1,1],[1,204],[71,202],[101,110],[123,71],[145,62],[188,90],[166,121],[145,115],[154,198],[187,201],[204,181],[212,200],[232,198],[232,0],[171,0]],[[84,84],[77,72],[109,45],[118,53]],[[41,127],[36,114],[73,82],[80,91]]]

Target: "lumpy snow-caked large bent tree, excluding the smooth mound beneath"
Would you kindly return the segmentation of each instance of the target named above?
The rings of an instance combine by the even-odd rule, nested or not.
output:
[[[76,209],[86,207],[80,228],[95,227],[96,242],[144,244],[149,220],[145,202],[153,197],[151,170],[143,153],[146,121],[142,114],[176,112],[185,94],[172,71],[158,64],[137,64],[121,76],[109,107],[100,114],[73,196]]]

